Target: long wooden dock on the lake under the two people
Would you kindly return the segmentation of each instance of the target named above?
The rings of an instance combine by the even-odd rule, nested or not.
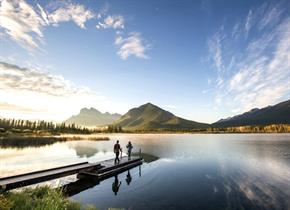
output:
[[[37,184],[60,177],[78,174],[78,178],[94,177],[100,180],[106,179],[113,174],[120,173],[137,164],[142,164],[142,158],[128,157],[120,158],[120,163],[115,164],[114,159],[102,161],[99,163],[82,162],[73,165],[30,172],[10,177],[0,178],[0,190],[11,190],[32,184]]]

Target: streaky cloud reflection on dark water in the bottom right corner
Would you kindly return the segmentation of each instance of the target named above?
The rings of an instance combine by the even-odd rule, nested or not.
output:
[[[279,169],[279,163],[276,163],[274,168],[269,167],[270,160],[261,164],[261,159],[257,158],[249,157],[239,164],[242,166],[240,168],[231,165],[233,163],[221,164],[220,175],[216,177],[216,182],[222,184],[222,190],[227,198],[226,207],[289,209],[289,171],[286,175],[282,172],[285,166]]]

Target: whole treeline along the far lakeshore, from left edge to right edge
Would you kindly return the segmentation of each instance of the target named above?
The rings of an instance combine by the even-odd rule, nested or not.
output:
[[[1,119],[0,133],[71,133],[71,134],[92,134],[92,133],[289,133],[289,124],[273,125],[251,125],[235,127],[209,127],[196,129],[138,129],[126,130],[121,126],[109,125],[102,129],[89,129],[75,124],[53,123],[44,120],[30,121],[17,119]]]

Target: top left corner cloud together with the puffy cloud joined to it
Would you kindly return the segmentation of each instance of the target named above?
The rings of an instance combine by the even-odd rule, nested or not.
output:
[[[85,28],[85,22],[94,14],[80,4],[66,4],[49,13],[39,4],[31,6],[24,0],[0,1],[0,32],[27,50],[39,49],[43,39],[43,28],[59,22],[74,21]]]

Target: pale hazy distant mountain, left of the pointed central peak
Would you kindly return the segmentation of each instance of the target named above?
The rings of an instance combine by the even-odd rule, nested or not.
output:
[[[79,126],[102,126],[113,123],[121,117],[120,114],[101,113],[94,108],[83,108],[78,115],[73,115],[65,121],[67,124]]]

